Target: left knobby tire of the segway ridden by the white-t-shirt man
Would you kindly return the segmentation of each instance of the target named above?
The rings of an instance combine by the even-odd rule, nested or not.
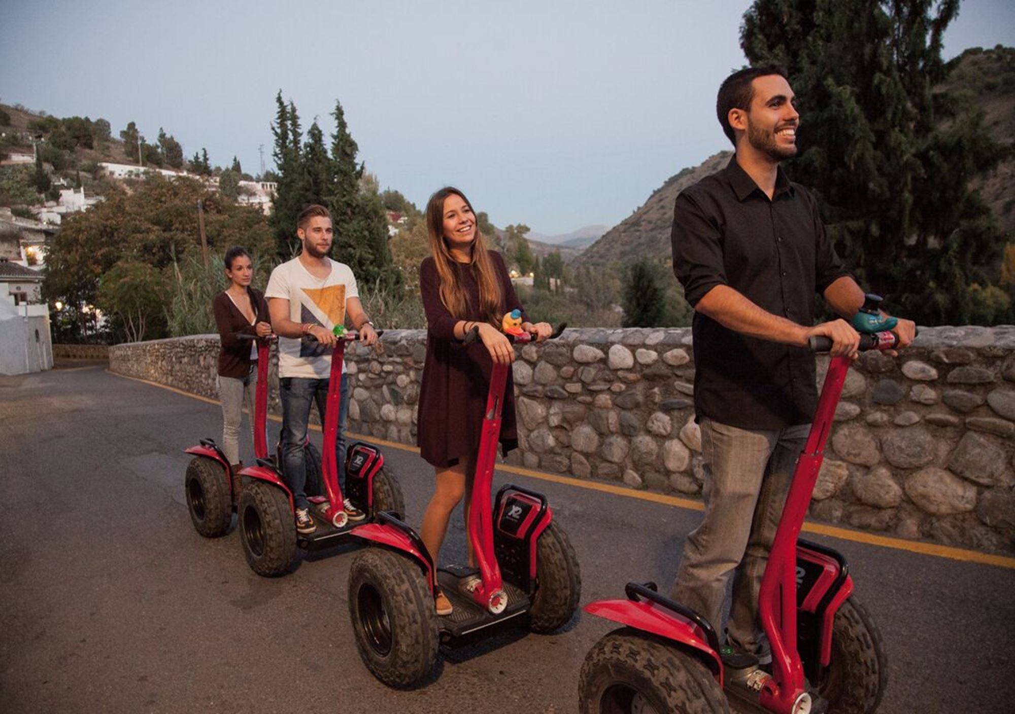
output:
[[[296,558],[296,524],[285,492],[253,480],[240,496],[238,514],[251,570],[265,577],[287,572]]]

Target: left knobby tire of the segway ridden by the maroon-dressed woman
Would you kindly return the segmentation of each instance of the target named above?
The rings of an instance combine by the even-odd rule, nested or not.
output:
[[[424,680],[437,658],[437,616],[423,571],[410,558],[367,548],[349,567],[356,649],[378,680],[398,689]]]

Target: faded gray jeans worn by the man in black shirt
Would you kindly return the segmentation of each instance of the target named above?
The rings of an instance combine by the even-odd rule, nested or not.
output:
[[[809,430],[803,424],[753,431],[701,420],[704,519],[684,543],[672,597],[707,618],[718,632],[733,573],[727,635],[748,652],[764,648],[761,576]]]

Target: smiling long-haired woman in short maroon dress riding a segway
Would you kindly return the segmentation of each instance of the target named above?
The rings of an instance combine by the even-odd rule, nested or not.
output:
[[[486,249],[476,216],[458,189],[445,188],[426,205],[430,257],[419,266],[419,287],[426,310],[426,364],[419,394],[419,452],[436,471],[436,490],[423,514],[420,537],[434,563],[448,531],[451,513],[462,497],[469,522],[469,498],[490,370],[494,362],[511,364],[515,350],[500,332],[505,312],[522,309],[503,258]],[[522,329],[543,341],[552,329],[533,325],[522,310]],[[480,343],[463,345],[479,328]],[[515,394],[507,372],[500,447],[518,446]],[[469,546],[469,561],[472,563]],[[474,582],[474,581],[473,581]],[[470,582],[471,584],[471,582]],[[435,592],[437,615],[450,615],[448,597]]]

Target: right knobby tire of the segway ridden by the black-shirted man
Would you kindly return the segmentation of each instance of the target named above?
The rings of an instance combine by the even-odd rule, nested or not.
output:
[[[856,596],[835,613],[831,630],[831,661],[818,687],[818,694],[828,700],[829,714],[877,711],[888,685],[881,632]]]

